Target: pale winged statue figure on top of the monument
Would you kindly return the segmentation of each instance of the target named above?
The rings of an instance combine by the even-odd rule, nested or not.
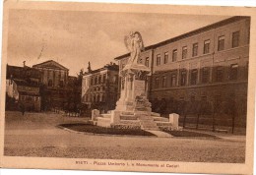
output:
[[[124,43],[127,49],[131,52],[131,57],[129,58],[127,64],[138,64],[141,51],[144,50],[141,33],[139,31],[132,31],[129,36],[124,36]]]

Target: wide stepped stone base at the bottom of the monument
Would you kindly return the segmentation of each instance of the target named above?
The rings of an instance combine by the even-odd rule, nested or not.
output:
[[[160,117],[160,114],[155,112],[112,110],[107,114],[92,116],[91,123],[100,127],[124,130],[177,131],[181,129],[178,126],[178,118],[177,114],[169,114],[168,119]]]

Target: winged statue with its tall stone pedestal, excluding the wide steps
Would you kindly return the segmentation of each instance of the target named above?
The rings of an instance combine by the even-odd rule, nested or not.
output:
[[[124,37],[124,44],[130,51],[127,65],[120,71],[121,96],[117,101],[118,110],[151,110],[147,99],[147,76],[150,68],[139,63],[144,50],[139,31],[130,32]]]

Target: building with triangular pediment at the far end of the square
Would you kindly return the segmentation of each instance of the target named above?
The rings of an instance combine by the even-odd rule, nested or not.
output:
[[[41,73],[44,110],[50,108],[77,110],[81,101],[81,83],[78,78],[69,76],[69,70],[53,60],[33,65],[32,68]]]

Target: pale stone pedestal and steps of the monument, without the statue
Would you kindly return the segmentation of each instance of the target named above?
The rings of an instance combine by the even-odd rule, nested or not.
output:
[[[171,130],[173,127],[167,118],[152,112],[147,98],[147,75],[150,72],[142,64],[126,65],[120,72],[121,95],[116,102],[116,108],[108,114],[94,116],[96,125],[118,129]],[[94,111],[95,115],[97,113]],[[171,121],[176,123],[177,120],[171,118]]]

